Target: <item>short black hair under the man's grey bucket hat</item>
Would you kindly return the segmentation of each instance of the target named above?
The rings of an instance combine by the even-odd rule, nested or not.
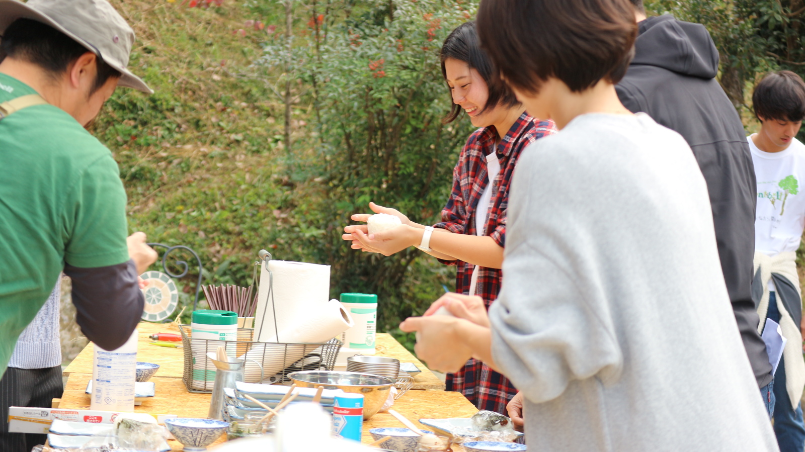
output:
[[[70,64],[88,52],[87,47],[76,43],[68,35],[45,23],[19,18],[6,28],[0,40],[0,61],[6,56],[27,61],[43,68],[52,76],[67,71]],[[97,57],[97,74],[90,94],[96,92],[111,77],[120,77],[117,69]]]

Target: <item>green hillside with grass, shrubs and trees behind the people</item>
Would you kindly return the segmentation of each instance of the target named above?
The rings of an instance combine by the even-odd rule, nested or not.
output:
[[[278,0],[112,0],[138,34],[130,66],[156,92],[118,89],[93,133],[120,164],[131,230],[196,249],[205,283],[251,284],[259,249],[332,265],[331,296],[378,294],[379,330],[411,346],[398,321],[452,290],[454,270],[411,250],[356,253],[341,228],[369,201],[438,220],[472,129],[440,122],[450,97],[438,49],[474,18],[477,2],[289,1],[290,47]],[[803,0],[646,6],[708,27],[720,81],[749,132],[758,126],[749,110],[758,77],[805,72]],[[181,281],[183,303],[194,285]]]

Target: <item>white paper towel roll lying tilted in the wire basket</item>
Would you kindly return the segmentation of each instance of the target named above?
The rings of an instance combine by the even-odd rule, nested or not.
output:
[[[246,382],[254,383],[260,380],[260,368],[254,363],[262,363],[263,377],[269,378],[277,372],[282,372],[304,355],[313,351],[310,347],[303,347],[299,343],[325,343],[341,335],[353,327],[353,319],[338,300],[322,303],[307,313],[303,321],[283,324],[279,327],[279,338],[272,337],[266,343],[255,343],[250,351],[243,355],[246,361]],[[279,316],[279,315],[278,315]],[[291,344],[291,345],[286,345]]]

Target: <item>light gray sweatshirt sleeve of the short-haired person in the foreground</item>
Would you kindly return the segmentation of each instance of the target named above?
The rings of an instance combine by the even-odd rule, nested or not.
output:
[[[553,165],[536,164],[535,154],[523,153],[514,175],[506,277],[489,318],[495,364],[529,401],[540,403],[559,397],[571,380],[617,376],[623,356],[607,304],[594,290],[576,286],[584,236],[574,229],[581,190],[573,186],[583,184],[542,171]]]

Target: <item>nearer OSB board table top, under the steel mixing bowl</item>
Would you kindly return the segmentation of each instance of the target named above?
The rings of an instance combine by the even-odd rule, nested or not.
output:
[[[89,396],[85,394],[87,382],[92,378],[85,373],[72,373],[64,387],[64,396],[61,398],[59,407],[61,409],[89,409]],[[209,394],[196,394],[188,392],[179,378],[151,379],[155,383],[155,397],[142,402],[142,405],[134,407],[135,413],[149,414],[176,414],[179,417],[207,417],[209,409]],[[477,413],[477,408],[471,404],[459,392],[445,391],[408,391],[398,401],[394,402],[394,409],[403,416],[414,421],[422,429],[427,429],[426,425],[419,424],[421,418],[444,418],[444,417],[471,417]],[[378,413],[374,417],[365,421],[363,425],[363,442],[369,443],[373,439],[369,434],[369,429],[378,427],[400,427],[402,426],[389,413]],[[224,442],[225,437],[219,439],[216,444]],[[173,450],[182,450],[179,442],[168,441]],[[459,452],[460,447],[454,446],[453,450]]]

